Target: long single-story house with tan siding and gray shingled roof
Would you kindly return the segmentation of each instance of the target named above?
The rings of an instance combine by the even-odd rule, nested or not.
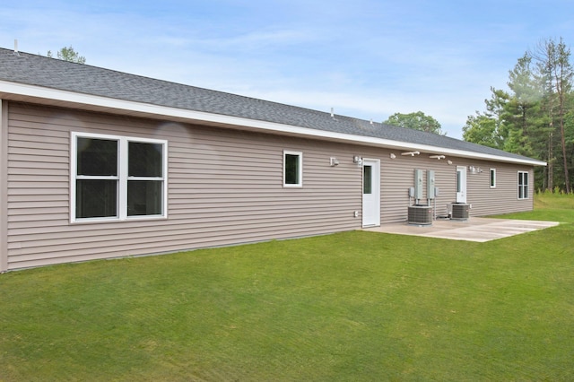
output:
[[[533,208],[532,158],[0,48],[0,272]]]

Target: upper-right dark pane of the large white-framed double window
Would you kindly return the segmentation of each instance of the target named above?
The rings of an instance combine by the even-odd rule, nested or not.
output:
[[[128,176],[161,178],[163,145],[160,143],[128,143]]]

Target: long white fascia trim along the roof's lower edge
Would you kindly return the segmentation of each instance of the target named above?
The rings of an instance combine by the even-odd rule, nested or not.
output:
[[[248,127],[250,129],[264,130],[268,132],[287,134],[287,135],[319,137],[332,141],[368,144],[372,146],[380,146],[397,150],[416,150],[421,152],[440,153],[443,155],[452,155],[464,158],[502,161],[508,163],[519,163],[533,166],[546,165],[546,162],[544,161],[520,160],[498,155],[483,154],[480,152],[467,152],[464,150],[446,149],[443,147],[431,146],[426,144],[405,143],[370,136],[334,133],[307,127],[283,125],[274,122],[265,122],[243,117],[231,117],[222,114],[206,113],[202,111],[170,108],[165,106],[153,105],[149,103],[135,102],[130,100],[117,100],[109,97],[83,94],[74,91],[62,91],[36,85],[0,81],[0,98],[4,98],[4,96],[7,96],[6,97],[7,99],[11,99],[9,95],[16,95],[20,97],[23,96],[26,98],[30,97],[32,99],[39,99],[39,100],[50,100],[53,103],[54,101],[56,101],[55,103],[86,105],[91,106],[92,108],[97,107],[100,109],[108,109],[110,111],[121,110],[124,112],[127,111],[131,114],[140,114],[140,115],[166,117],[166,118],[176,117],[180,119],[186,119],[188,121],[208,123],[210,125],[240,126],[244,128]]]

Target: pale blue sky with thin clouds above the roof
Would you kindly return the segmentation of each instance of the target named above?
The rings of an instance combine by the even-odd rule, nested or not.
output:
[[[377,122],[420,110],[455,138],[526,50],[574,44],[571,0],[5,3],[3,48]]]

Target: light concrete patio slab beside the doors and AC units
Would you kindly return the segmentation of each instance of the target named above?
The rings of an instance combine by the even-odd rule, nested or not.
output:
[[[557,221],[521,221],[471,217],[466,221],[436,220],[432,225],[419,226],[402,223],[382,224],[380,227],[364,230],[398,235],[424,236],[452,240],[485,242],[533,230],[544,230],[557,226]]]

